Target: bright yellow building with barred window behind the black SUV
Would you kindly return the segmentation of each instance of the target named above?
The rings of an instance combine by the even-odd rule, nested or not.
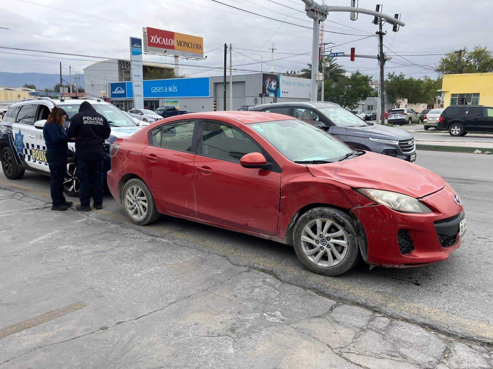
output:
[[[493,73],[445,74],[443,107],[450,105],[493,106]]]

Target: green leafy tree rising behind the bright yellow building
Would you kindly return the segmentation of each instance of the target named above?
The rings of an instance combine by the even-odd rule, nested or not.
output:
[[[473,51],[463,48],[460,64],[458,53],[450,53],[440,59],[436,71],[440,74],[487,73],[493,72],[493,57],[486,47],[474,46]]]

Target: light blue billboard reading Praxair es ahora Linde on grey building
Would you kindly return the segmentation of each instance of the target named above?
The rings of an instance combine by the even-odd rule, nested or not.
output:
[[[306,78],[262,73],[262,95],[310,99],[312,81]]]

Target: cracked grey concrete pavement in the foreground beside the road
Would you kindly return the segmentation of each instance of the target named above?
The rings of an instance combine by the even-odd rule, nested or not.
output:
[[[482,369],[493,351],[0,189],[0,368]]]

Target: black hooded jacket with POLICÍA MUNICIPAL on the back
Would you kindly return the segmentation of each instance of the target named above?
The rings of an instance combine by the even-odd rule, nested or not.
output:
[[[88,101],[80,104],[79,113],[70,120],[68,135],[75,138],[75,156],[81,160],[103,160],[103,144],[110,133],[106,118]]]

